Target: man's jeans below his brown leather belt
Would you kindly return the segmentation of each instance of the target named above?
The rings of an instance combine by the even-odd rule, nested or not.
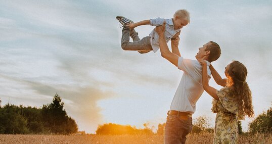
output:
[[[192,117],[180,118],[169,114],[165,125],[164,144],[185,144],[186,135],[192,128]]]

